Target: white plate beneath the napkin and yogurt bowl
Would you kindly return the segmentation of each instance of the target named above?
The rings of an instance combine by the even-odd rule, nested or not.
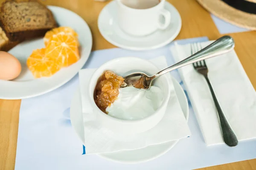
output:
[[[186,120],[189,117],[189,105],[186,99],[186,95],[177,82],[175,78],[172,77],[173,85],[175,87],[175,92],[180,103],[180,107],[184,113]],[[73,96],[70,106],[70,120],[73,128],[78,134],[82,142],[84,142],[84,125],[83,125],[83,115],[81,106],[81,95],[80,89],[78,88]],[[118,151],[114,153],[101,153],[99,156],[122,163],[139,163],[155,159],[164,153],[168,152],[179,140],[166,142],[163,144],[151,145],[137,150],[126,150]]]

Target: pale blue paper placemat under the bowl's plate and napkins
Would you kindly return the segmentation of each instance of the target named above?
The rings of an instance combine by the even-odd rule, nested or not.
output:
[[[207,37],[177,41],[179,44],[207,41]],[[152,59],[164,55],[174,63],[170,45],[151,51],[128,51],[120,48],[94,51],[84,68],[97,68],[106,61],[125,56]],[[182,85],[177,71],[172,71]],[[69,109],[78,87],[78,76],[48,94],[23,99],[17,140],[15,170],[95,170],[95,169],[196,169],[217,164],[256,158],[256,140],[240,142],[230,148],[224,144],[207,147],[189,106],[190,140],[181,139],[165,155],[141,164],[119,164],[96,155],[84,156],[84,147],[70,124]]]

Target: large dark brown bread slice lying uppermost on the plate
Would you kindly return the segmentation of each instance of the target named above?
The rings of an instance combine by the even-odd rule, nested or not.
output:
[[[6,0],[1,6],[0,26],[10,41],[23,41],[44,36],[57,23],[37,0]]]

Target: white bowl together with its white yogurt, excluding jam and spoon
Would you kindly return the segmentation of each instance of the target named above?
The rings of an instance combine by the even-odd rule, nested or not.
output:
[[[102,126],[119,133],[141,133],[151,129],[163,118],[170,97],[169,81],[165,75],[154,80],[150,90],[125,87],[119,90],[117,99],[104,113],[94,101],[94,92],[99,77],[105,71],[126,76],[136,71],[153,75],[160,71],[153,63],[137,57],[120,57],[100,66],[89,82],[89,101],[93,113]],[[144,109],[143,109],[144,108]]]

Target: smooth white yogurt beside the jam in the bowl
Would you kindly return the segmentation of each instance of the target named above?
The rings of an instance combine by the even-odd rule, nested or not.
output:
[[[119,89],[118,98],[106,111],[118,119],[138,120],[153,114],[162,102],[163,92],[157,86],[149,90],[129,86]]]

